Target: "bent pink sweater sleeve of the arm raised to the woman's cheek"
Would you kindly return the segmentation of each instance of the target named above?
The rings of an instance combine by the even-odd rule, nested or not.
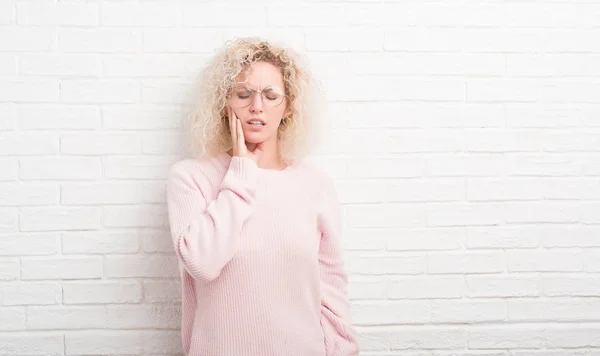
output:
[[[233,258],[242,225],[253,211],[257,170],[250,158],[233,157],[218,196],[209,200],[186,161],[171,168],[167,180],[171,237],[192,278],[214,280]]]

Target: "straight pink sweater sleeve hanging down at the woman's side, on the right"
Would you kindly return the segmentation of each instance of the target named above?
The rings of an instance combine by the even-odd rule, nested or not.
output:
[[[326,181],[320,214],[321,327],[327,356],[357,356],[359,345],[350,317],[348,276],[341,249],[340,206],[331,179]]]

